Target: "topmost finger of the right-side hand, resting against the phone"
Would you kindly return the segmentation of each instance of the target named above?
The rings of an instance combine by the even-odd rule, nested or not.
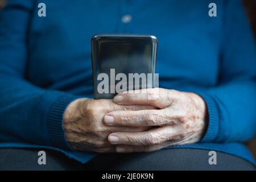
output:
[[[114,97],[113,102],[119,105],[152,105],[164,108],[172,104],[169,97],[170,90],[162,88],[151,88],[139,90],[139,93],[124,92]]]

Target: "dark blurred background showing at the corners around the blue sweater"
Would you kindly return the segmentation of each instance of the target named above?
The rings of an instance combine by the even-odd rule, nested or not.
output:
[[[0,0],[0,11],[1,11],[1,8],[5,5],[6,1],[8,1],[8,0]],[[256,41],[256,1],[255,0],[243,0],[243,4],[245,5],[245,9],[247,11],[247,15],[249,16],[251,26],[253,27],[254,35],[255,35],[254,39]],[[256,139],[251,142],[248,142],[247,146],[250,148],[251,152],[253,152],[254,159],[256,160]]]

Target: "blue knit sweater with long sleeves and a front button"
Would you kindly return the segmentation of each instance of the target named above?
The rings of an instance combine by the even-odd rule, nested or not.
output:
[[[88,162],[97,154],[71,150],[63,113],[92,98],[90,38],[150,34],[159,40],[159,86],[198,93],[208,106],[204,138],[177,147],[254,163],[242,144],[256,134],[254,38],[240,1],[214,1],[217,17],[208,16],[210,2],[9,0],[0,13],[0,147],[52,148]]]

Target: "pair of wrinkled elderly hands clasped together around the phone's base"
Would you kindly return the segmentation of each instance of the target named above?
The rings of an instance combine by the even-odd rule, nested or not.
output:
[[[69,145],[79,151],[147,152],[203,137],[208,113],[199,95],[140,91],[119,93],[113,100],[73,101],[64,113]]]

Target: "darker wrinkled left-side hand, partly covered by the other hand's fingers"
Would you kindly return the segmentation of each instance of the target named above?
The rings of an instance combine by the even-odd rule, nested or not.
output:
[[[115,146],[108,142],[108,135],[114,131],[138,132],[150,129],[148,126],[106,126],[102,121],[105,114],[116,110],[155,109],[143,105],[117,105],[112,100],[77,99],[68,105],[64,113],[65,137],[69,145],[79,151],[115,152]]]

